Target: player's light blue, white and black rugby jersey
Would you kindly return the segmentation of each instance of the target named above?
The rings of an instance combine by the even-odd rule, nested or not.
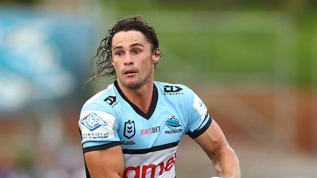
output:
[[[121,145],[123,178],[175,178],[180,138],[197,138],[211,122],[206,106],[184,85],[154,82],[145,114],[115,81],[84,104],[79,128],[84,153]]]

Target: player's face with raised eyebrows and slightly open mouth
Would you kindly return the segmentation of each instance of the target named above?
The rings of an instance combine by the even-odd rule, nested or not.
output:
[[[112,64],[118,81],[130,89],[153,82],[154,64],[159,55],[139,31],[118,32],[112,38]]]

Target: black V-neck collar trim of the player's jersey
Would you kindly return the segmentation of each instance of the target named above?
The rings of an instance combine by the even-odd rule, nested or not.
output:
[[[140,116],[142,116],[146,120],[149,120],[151,118],[158,104],[158,88],[155,86],[154,83],[153,83],[152,102],[151,102],[149,111],[146,114],[139,107],[137,107],[130,100],[128,100],[128,98],[123,94],[122,90],[120,89],[117,80],[114,82],[114,86],[118,90],[120,96],[134,109],[134,111],[136,111],[136,113],[138,113]]]

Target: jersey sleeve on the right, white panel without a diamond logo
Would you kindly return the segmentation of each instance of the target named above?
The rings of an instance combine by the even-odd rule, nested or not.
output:
[[[188,116],[189,125],[187,135],[192,139],[197,138],[202,133],[204,133],[212,122],[210,118],[207,107],[201,101],[201,99],[192,90],[191,101],[188,102]]]

